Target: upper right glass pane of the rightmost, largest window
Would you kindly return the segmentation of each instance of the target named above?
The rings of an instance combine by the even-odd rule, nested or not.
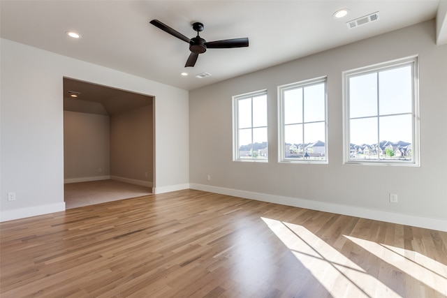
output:
[[[411,66],[379,73],[380,114],[411,112]]]

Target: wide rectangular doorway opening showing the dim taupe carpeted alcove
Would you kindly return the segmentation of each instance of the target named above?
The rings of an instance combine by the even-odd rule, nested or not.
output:
[[[154,97],[64,77],[66,209],[149,195]]]

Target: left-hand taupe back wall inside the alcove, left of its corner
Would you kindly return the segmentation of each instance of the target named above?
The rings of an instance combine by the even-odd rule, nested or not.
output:
[[[64,179],[108,175],[110,117],[64,111]]]

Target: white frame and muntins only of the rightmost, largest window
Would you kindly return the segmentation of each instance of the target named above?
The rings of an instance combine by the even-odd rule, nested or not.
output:
[[[395,113],[395,114],[380,114],[380,111],[377,110],[376,115],[377,119],[380,117],[393,117],[402,114],[411,114],[411,147],[412,154],[410,161],[402,161],[402,160],[392,160],[392,159],[372,159],[372,160],[356,160],[351,159],[351,130],[350,130],[350,89],[349,89],[349,79],[351,77],[358,77],[360,75],[368,75],[371,73],[381,73],[387,70],[393,70],[397,68],[402,68],[405,66],[411,66],[411,113]],[[419,131],[419,73],[418,73],[418,56],[405,57],[402,59],[396,59],[393,61],[387,61],[381,64],[374,64],[372,66],[365,66],[362,68],[356,68],[353,70],[345,70],[342,73],[343,76],[343,163],[351,164],[351,165],[391,165],[391,166],[420,166],[420,131]],[[377,86],[377,85],[376,85]],[[377,99],[376,102],[379,104],[379,89],[377,88]],[[362,117],[355,117],[362,118]],[[367,117],[365,117],[367,118]],[[353,118],[354,119],[354,118]],[[380,129],[380,124],[377,124],[378,130]],[[379,131],[378,131],[379,132]],[[380,136],[378,135],[377,144],[381,142]],[[397,140],[388,140],[390,142],[396,142]]]

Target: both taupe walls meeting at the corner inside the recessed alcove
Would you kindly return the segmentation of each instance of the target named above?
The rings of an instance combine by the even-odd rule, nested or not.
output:
[[[152,187],[152,114],[152,104],[111,117],[64,111],[65,182],[112,178]]]

